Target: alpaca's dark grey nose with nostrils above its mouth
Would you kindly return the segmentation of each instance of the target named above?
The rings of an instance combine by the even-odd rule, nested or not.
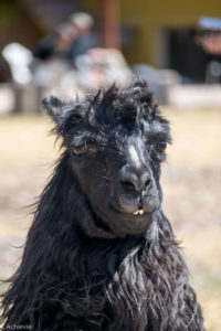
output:
[[[151,184],[151,177],[149,171],[144,171],[140,174],[133,171],[124,171],[119,178],[122,186],[126,191],[141,191],[148,189]]]

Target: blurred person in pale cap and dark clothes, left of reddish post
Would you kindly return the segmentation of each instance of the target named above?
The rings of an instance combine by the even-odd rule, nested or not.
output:
[[[91,29],[94,23],[88,13],[72,14],[69,22],[45,36],[33,51],[34,83],[39,87],[60,86],[67,75],[72,82],[76,76],[76,57],[96,45]],[[66,79],[64,79],[66,82]],[[70,81],[70,79],[69,79]]]

